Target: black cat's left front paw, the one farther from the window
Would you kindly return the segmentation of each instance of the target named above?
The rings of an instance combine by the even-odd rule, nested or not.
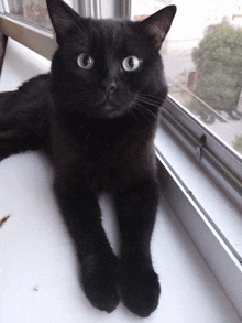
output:
[[[114,255],[107,257],[90,256],[82,262],[82,286],[91,304],[108,313],[112,312],[118,303],[118,258]]]

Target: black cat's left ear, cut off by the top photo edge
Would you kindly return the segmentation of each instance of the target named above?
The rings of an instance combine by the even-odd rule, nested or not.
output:
[[[63,44],[75,30],[81,31],[85,21],[63,0],[46,0],[48,14],[56,33],[56,41]],[[84,25],[82,25],[84,26]]]

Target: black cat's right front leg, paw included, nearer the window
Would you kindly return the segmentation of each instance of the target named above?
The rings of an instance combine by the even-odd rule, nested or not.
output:
[[[150,251],[158,202],[155,181],[136,183],[116,195],[121,230],[120,290],[123,303],[141,317],[158,304],[161,287]]]

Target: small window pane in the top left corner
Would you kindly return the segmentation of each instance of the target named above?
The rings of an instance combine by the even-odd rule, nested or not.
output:
[[[11,18],[52,30],[45,0],[3,0],[3,10]]]

